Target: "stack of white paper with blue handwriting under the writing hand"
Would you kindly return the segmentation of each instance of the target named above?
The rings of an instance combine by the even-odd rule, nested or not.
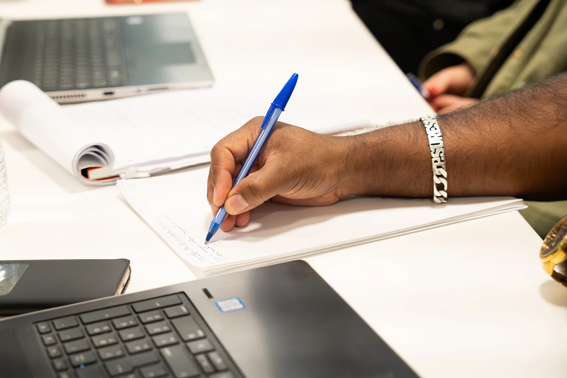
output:
[[[134,210],[199,276],[297,259],[368,241],[523,209],[512,197],[430,199],[353,197],[325,207],[264,203],[250,223],[205,236],[213,219],[206,200],[209,168],[120,180]]]

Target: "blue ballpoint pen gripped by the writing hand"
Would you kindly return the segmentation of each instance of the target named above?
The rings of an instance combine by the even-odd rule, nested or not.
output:
[[[289,100],[289,97],[291,97],[291,94],[293,93],[295,83],[297,83],[297,78],[298,74],[291,75],[291,78],[287,80],[284,88],[282,88],[280,93],[276,96],[276,99],[274,100],[272,105],[270,105],[268,113],[266,113],[266,116],[264,117],[264,122],[262,122],[260,134],[258,135],[258,138],[256,138],[256,142],[254,142],[254,145],[252,146],[246,160],[244,161],[244,164],[242,164],[242,168],[240,168],[238,176],[236,176],[234,181],[232,181],[232,188],[234,188],[236,184],[242,181],[242,179],[244,179],[244,177],[248,176],[248,173],[250,173],[252,165],[254,165],[254,163],[256,162],[258,155],[260,155],[260,151],[268,140],[270,133],[272,133],[272,129],[274,128],[276,121],[280,117],[281,112],[283,112],[285,109],[287,100]],[[213,222],[211,222],[211,225],[209,227],[209,232],[207,233],[205,244],[209,243],[211,237],[213,237],[215,232],[217,232],[219,227],[221,227],[221,223],[223,222],[223,220],[225,220],[227,214],[228,213],[225,210],[225,205],[219,207],[217,214],[214,215]]]

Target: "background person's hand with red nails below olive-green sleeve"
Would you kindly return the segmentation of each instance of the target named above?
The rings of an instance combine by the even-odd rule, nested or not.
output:
[[[429,91],[429,104],[439,114],[475,103],[476,99],[464,97],[475,80],[475,71],[467,63],[447,67],[424,82]]]

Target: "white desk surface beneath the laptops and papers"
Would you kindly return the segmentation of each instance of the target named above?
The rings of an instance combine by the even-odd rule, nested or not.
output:
[[[2,18],[179,9],[189,10],[219,86],[301,71],[307,86],[338,90],[367,114],[374,105],[373,120],[430,111],[345,0],[0,1]],[[280,45],[269,47],[276,35]],[[79,184],[5,121],[0,139],[12,203],[0,228],[2,260],[129,258],[129,292],[194,279],[115,186]],[[307,261],[424,378],[565,377],[567,291],[541,270],[540,244],[513,212]]]

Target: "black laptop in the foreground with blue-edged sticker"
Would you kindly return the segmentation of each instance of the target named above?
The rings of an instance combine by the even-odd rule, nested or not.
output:
[[[0,321],[1,378],[416,378],[306,262]]]

